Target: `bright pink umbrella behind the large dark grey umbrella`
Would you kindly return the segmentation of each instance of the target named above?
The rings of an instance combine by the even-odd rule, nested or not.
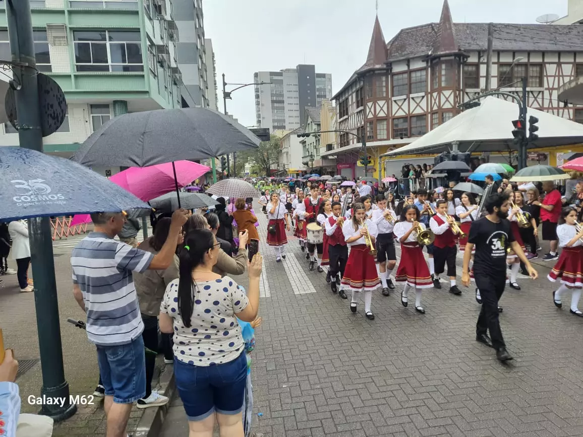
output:
[[[175,161],[149,167],[131,167],[113,175],[110,181],[147,202],[190,184],[209,170],[206,165],[191,161]]]

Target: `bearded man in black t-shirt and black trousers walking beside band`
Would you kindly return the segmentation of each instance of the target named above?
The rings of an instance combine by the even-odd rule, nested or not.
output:
[[[512,360],[512,357],[506,350],[498,320],[498,300],[506,285],[507,248],[512,248],[524,262],[532,279],[536,279],[538,273],[532,268],[512,235],[510,221],[507,220],[508,195],[506,193],[492,195],[486,200],[484,207],[488,215],[472,222],[470,227],[468,244],[463,253],[462,284],[465,287],[470,284],[468,267],[475,246],[473,274],[476,286],[482,294],[482,311],[476,323],[476,341],[496,349],[498,360],[508,361]]]

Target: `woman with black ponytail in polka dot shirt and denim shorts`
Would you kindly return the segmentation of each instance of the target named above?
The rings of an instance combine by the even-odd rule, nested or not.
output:
[[[247,359],[237,318],[252,322],[259,309],[261,254],[248,265],[249,290],[212,269],[220,243],[209,230],[188,233],[180,252],[180,277],[168,284],[160,330],[174,333],[174,374],[192,434],[243,436],[241,407]]]

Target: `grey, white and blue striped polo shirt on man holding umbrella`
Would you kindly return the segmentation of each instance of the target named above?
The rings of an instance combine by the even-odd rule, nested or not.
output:
[[[87,311],[87,337],[98,346],[127,344],[142,334],[143,322],[132,272],[145,272],[154,255],[90,232],[71,253],[73,283]]]

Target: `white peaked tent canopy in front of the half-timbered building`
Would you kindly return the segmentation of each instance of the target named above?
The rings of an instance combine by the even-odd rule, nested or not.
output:
[[[518,119],[518,104],[492,96],[483,98],[481,103],[479,107],[463,111],[409,145],[382,156],[441,153],[453,150],[455,142],[458,151],[462,152],[518,150],[512,137],[512,121]],[[529,148],[583,143],[583,124],[532,108],[528,108],[527,115],[539,119],[539,131],[536,132],[539,139],[529,143]]]

